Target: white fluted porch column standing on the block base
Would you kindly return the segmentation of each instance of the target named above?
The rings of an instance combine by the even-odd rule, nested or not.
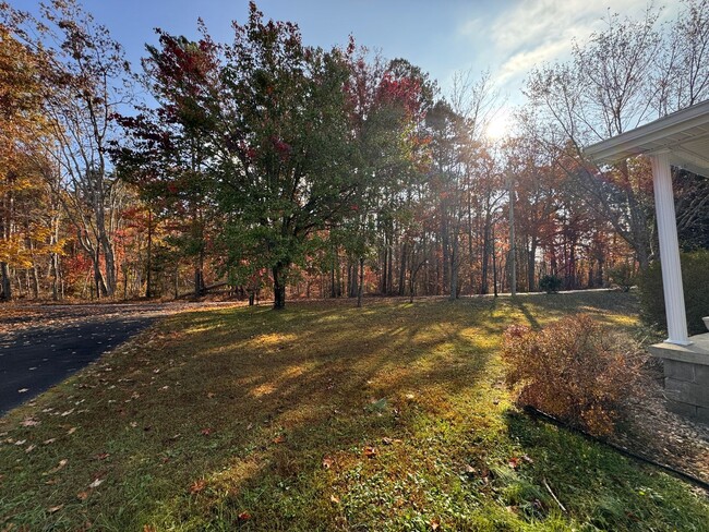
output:
[[[680,243],[677,223],[674,214],[674,195],[672,194],[672,171],[670,152],[662,150],[650,155],[652,164],[652,183],[654,185],[654,210],[658,217],[658,237],[660,239],[660,264],[662,266],[662,290],[664,292],[664,311],[668,316],[665,341],[688,346],[687,317],[684,310],[684,291],[682,289],[682,270],[680,269]]]

